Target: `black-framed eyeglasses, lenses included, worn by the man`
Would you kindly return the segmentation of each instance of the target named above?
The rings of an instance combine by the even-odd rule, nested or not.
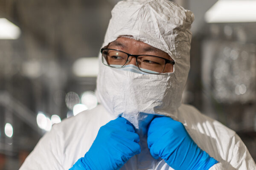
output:
[[[110,48],[102,48],[101,53],[102,62],[104,65],[108,65],[109,67],[113,68],[123,68],[129,61],[128,58],[132,56],[136,58],[136,65],[140,69],[140,71],[150,74],[163,73],[167,63],[170,63],[172,65],[175,64],[175,61],[163,57],[152,55],[132,55],[123,51]],[[152,73],[152,71],[156,73]]]

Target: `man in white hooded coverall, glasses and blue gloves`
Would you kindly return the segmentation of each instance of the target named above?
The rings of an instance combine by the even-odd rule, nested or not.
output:
[[[256,169],[233,130],[181,104],[193,20],[168,0],[119,2],[101,49],[102,105],[53,126],[20,169]]]

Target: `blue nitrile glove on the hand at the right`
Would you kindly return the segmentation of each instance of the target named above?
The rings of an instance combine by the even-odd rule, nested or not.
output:
[[[208,170],[218,163],[198,147],[182,123],[169,117],[151,121],[147,142],[154,159],[161,157],[175,170]]]

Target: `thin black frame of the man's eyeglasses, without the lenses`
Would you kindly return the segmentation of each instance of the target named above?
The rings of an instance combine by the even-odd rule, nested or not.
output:
[[[120,50],[111,49],[111,48],[102,48],[102,49],[100,50],[101,54],[102,54],[103,50],[115,50],[115,51],[120,51]],[[165,60],[165,65],[164,65],[163,71],[164,71],[165,66],[166,66],[167,63],[171,63],[172,65],[175,64],[175,61],[170,60],[170,59],[166,59],[166,58],[163,58],[163,57],[158,57],[158,56],[153,56],[153,55],[145,55],[145,54],[143,54],[143,55],[133,55],[133,54],[126,53],[126,52],[124,52],[124,51],[120,51],[120,52],[125,53],[125,54],[128,55],[125,64],[128,62],[128,58],[129,58],[130,56],[135,57],[135,58],[136,58],[136,65],[137,65],[137,67],[139,68],[139,70],[140,70],[140,67],[138,66],[137,58],[140,57],[140,56],[151,56],[151,57],[157,57],[157,58],[164,59],[164,60]],[[103,61],[103,55],[102,55],[102,63],[103,63],[104,65],[106,65],[106,64],[104,63],[104,61]],[[122,67],[112,67],[112,66],[110,66],[110,65],[107,65],[107,66],[112,67],[112,68],[123,68],[123,67],[125,66],[125,64],[122,65]],[[143,70],[140,70],[140,71],[143,71]],[[163,73],[163,71],[162,71],[161,73]],[[143,71],[143,72],[145,72],[145,71]],[[148,73],[148,72],[145,72],[145,73]],[[150,73],[150,74],[161,74],[161,73]]]

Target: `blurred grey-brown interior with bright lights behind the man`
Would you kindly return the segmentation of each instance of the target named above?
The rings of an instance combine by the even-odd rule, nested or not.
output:
[[[97,56],[118,1],[0,0],[0,170],[96,107]],[[256,160],[256,0],[174,1],[195,14],[183,102],[235,130]]]

